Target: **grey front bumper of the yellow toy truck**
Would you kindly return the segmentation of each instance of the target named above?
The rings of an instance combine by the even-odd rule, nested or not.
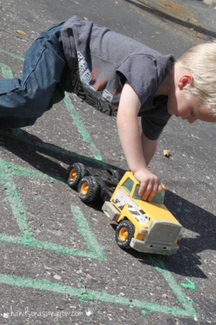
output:
[[[140,239],[132,238],[130,246],[138,251],[153,254],[172,255],[177,252],[179,245],[169,243],[145,242]]]

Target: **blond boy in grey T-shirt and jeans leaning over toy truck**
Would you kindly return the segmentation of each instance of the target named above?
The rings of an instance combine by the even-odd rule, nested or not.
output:
[[[162,186],[147,166],[171,115],[216,122],[216,43],[198,45],[175,62],[170,54],[73,16],[36,38],[21,80],[0,80],[0,127],[32,125],[64,91],[117,116],[139,195],[150,201]]]

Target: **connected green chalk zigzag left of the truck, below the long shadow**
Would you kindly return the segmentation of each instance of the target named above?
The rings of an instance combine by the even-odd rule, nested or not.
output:
[[[74,216],[75,222],[77,224],[77,228],[82,235],[84,241],[86,242],[89,251],[87,250],[75,250],[69,249],[65,246],[58,245],[48,241],[37,240],[33,238],[33,234],[27,224],[27,216],[24,204],[21,198],[18,195],[16,190],[15,183],[13,181],[13,177],[17,177],[17,175],[13,175],[13,164],[6,162],[3,159],[0,159],[0,181],[2,182],[3,188],[6,192],[7,201],[11,207],[12,214],[17,222],[19,227],[21,236],[8,236],[3,233],[0,234],[0,241],[10,242],[15,244],[22,244],[25,246],[38,247],[42,249],[49,249],[56,252],[67,253],[71,255],[84,256],[89,258],[103,259],[104,255],[100,248],[99,243],[97,242],[96,237],[91,232],[88,222],[81,210],[74,205],[71,205],[71,211]],[[33,171],[30,173],[30,169],[26,167],[17,166],[14,164],[16,169],[19,169],[23,176],[34,176],[44,178],[44,174],[42,172]],[[50,178],[47,175],[45,178]],[[52,178],[51,178],[52,179]]]

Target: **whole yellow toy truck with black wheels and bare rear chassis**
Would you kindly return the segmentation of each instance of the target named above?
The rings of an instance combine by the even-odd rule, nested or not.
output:
[[[123,175],[123,176],[122,176]],[[151,202],[138,195],[139,181],[131,171],[87,167],[80,162],[69,166],[67,184],[79,198],[90,203],[100,198],[102,210],[116,226],[121,248],[171,255],[179,249],[182,225],[164,205],[166,186]]]

